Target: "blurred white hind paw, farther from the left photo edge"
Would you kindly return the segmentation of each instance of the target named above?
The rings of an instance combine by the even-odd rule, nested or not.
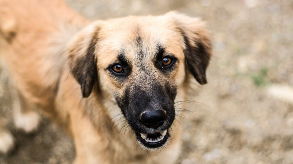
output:
[[[16,128],[22,129],[29,133],[38,128],[40,116],[36,112],[29,112],[25,114],[16,114],[14,116],[14,123]]]

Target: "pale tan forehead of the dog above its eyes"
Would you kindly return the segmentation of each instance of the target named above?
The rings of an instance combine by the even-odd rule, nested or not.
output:
[[[183,37],[175,24],[163,16],[126,17],[106,21],[99,31],[103,58],[115,60],[123,53],[130,61],[151,60],[158,47],[172,53],[182,52]],[[179,56],[179,55],[178,55]]]

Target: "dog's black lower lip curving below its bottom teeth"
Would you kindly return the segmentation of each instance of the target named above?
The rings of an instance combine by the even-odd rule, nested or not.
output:
[[[163,131],[162,131],[163,132]],[[147,135],[147,138],[149,138],[150,135],[154,135],[156,137],[163,137],[161,139],[161,141],[158,141],[158,142],[147,142],[146,139],[143,139],[141,134],[139,132],[136,132],[136,138],[139,140],[139,142],[144,145],[145,147],[149,148],[149,149],[156,149],[156,148],[160,148],[161,146],[163,146],[167,140],[168,140],[168,137],[169,137],[169,133],[168,133],[168,130],[165,130],[165,136],[162,136],[159,132],[157,133],[153,133],[153,134],[146,134]],[[155,138],[155,137],[154,137]]]

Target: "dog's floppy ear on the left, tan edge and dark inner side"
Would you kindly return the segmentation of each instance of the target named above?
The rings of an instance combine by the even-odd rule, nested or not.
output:
[[[99,27],[90,25],[73,37],[68,48],[68,64],[81,86],[82,97],[89,97],[97,81],[95,47]]]

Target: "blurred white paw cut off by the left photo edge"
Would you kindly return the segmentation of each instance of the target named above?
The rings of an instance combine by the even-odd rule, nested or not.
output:
[[[0,153],[8,153],[11,149],[13,149],[13,146],[13,136],[7,131],[0,132]]]

